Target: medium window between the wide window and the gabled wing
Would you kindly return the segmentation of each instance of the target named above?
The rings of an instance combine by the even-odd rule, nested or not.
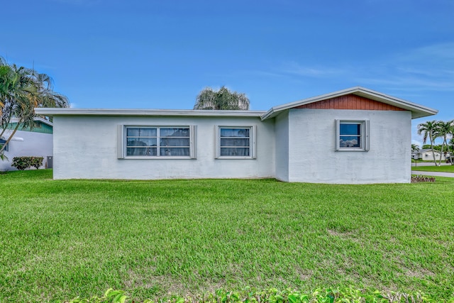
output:
[[[255,126],[217,126],[216,158],[255,158]]]

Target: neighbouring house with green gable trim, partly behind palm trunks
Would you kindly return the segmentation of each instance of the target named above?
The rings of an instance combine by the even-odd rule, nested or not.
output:
[[[35,126],[33,128],[23,128],[19,126],[18,131],[14,134],[11,141],[4,150],[6,155],[5,160],[0,160],[0,171],[16,170],[11,167],[14,157],[23,156],[38,156],[43,157],[43,166],[48,167],[50,163],[47,162],[48,157],[52,158],[53,153],[53,140],[52,122],[43,118],[34,119]],[[0,144],[3,145],[9,138],[9,135],[16,128],[17,119],[11,119],[8,128],[6,128],[3,136],[0,138]],[[1,132],[1,129],[0,129]]]

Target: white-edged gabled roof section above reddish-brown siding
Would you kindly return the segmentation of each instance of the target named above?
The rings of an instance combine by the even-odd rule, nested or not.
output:
[[[397,106],[401,109],[411,111],[411,119],[421,118],[421,117],[425,117],[425,116],[431,116],[431,115],[435,115],[438,113],[438,110],[436,110],[436,109],[431,109],[429,107],[415,104],[410,101],[406,101],[404,99],[391,97],[391,96],[389,96],[387,94],[383,94],[381,92],[375,92],[372,89],[366,89],[364,87],[352,87],[350,89],[343,89],[338,92],[331,92],[329,94],[322,94],[320,96],[311,97],[308,99],[303,99],[303,100],[299,100],[299,101],[294,101],[294,102],[274,106],[269,111],[267,111],[266,114],[264,114],[262,116],[262,120],[273,118],[273,117],[277,116],[278,114],[280,114],[282,111],[286,111],[287,109],[292,109],[297,106],[311,104],[311,103],[323,101],[326,99],[341,97],[341,96],[345,96],[347,94],[355,94],[360,97],[365,97],[367,99],[372,99],[375,101],[382,102],[384,104]]]

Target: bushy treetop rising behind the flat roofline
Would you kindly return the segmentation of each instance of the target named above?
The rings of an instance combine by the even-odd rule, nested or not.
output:
[[[249,109],[249,99],[243,93],[231,92],[221,87],[217,92],[206,87],[196,97],[194,109],[243,110]]]

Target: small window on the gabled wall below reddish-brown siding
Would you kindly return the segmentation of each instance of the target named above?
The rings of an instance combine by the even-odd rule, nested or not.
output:
[[[369,121],[336,120],[336,150],[369,150]]]

